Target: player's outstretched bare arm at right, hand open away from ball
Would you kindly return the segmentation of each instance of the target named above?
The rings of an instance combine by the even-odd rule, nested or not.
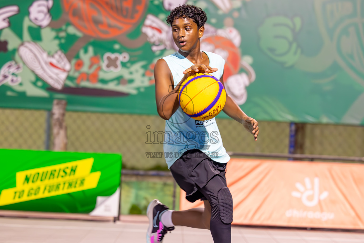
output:
[[[223,75],[220,81],[224,85]],[[222,110],[226,113],[226,115],[233,118],[235,121],[240,122],[248,132],[254,135],[254,140],[257,141],[259,134],[258,122],[255,119],[248,117],[248,115],[240,109],[240,106],[238,106],[234,99],[228,94],[226,94],[226,102]]]

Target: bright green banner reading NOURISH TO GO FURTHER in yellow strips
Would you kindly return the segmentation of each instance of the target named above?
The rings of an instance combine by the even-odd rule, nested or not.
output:
[[[119,154],[0,149],[0,209],[119,215]]]

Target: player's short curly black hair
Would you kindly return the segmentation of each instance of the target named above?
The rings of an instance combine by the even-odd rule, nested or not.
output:
[[[172,25],[173,20],[184,18],[192,19],[197,24],[198,28],[204,26],[207,20],[206,13],[202,8],[196,7],[195,5],[183,4],[172,9],[170,15],[167,16],[166,21],[169,25]]]

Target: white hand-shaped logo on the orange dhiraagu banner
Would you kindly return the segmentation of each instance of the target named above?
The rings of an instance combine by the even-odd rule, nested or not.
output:
[[[297,182],[296,188],[298,189],[299,192],[293,191],[291,195],[297,198],[301,198],[302,203],[307,207],[316,206],[319,200],[324,200],[329,195],[328,191],[324,191],[320,194],[320,179],[318,179],[318,177],[315,177],[313,179],[313,188],[311,180],[308,177],[306,177],[305,186],[306,187],[304,187],[301,183]],[[308,197],[312,195],[313,199],[308,200]]]

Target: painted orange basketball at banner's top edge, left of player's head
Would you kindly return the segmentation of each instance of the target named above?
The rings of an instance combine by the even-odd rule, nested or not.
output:
[[[109,39],[136,27],[147,9],[147,0],[63,0],[70,22],[85,35]]]

